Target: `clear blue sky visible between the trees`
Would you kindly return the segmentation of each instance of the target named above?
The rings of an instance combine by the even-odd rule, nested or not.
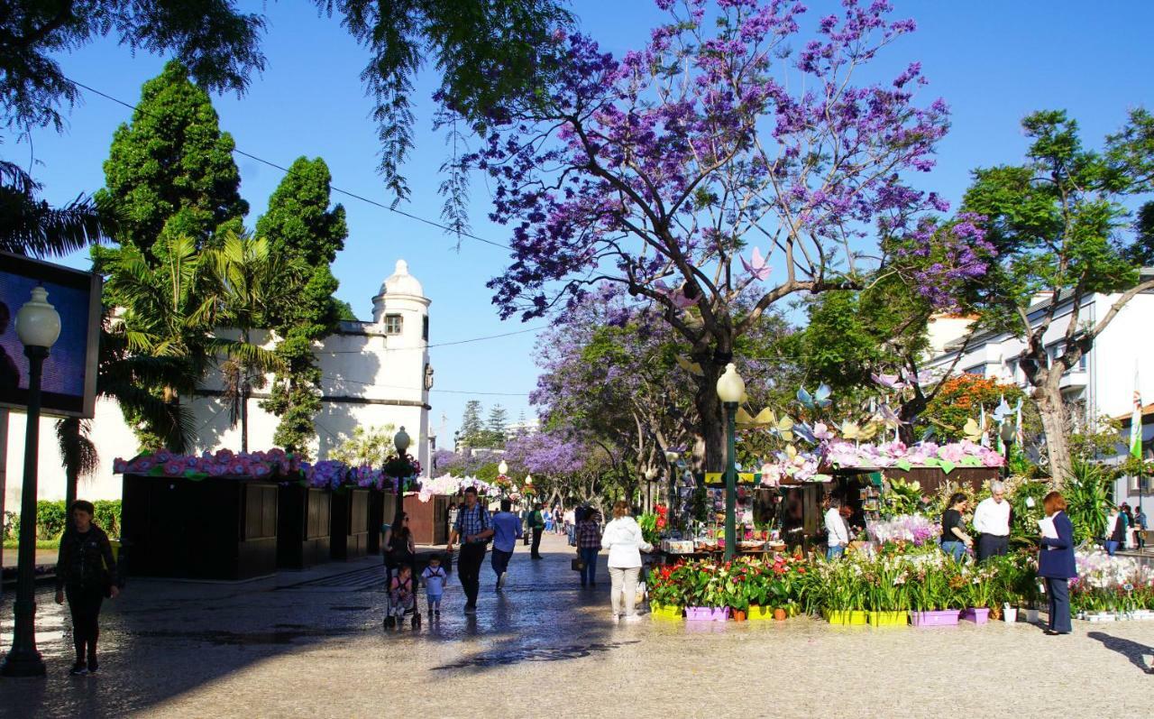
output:
[[[319,17],[312,3],[249,2],[250,12],[269,18],[264,39],[268,68],[254,77],[243,98],[215,96],[222,127],[237,147],[287,166],[295,157],[321,156],[332,171],[334,185],[388,204],[375,173],[377,143],[368,118],[370,103],[359,80],[366,55],[338,22]],[[811,1],[808,22],[834,12],[840,3]],[[961,196],[975,166],[1017,162],[1025,148],[1019,119],[1034,110],[1065,108],[1077,118],[1084,140],[1097,144],[1117,129],[1126,110],[1154,106],[1154,3],[1145,0],[1087,5],[1072,0],[1041,2],[909,2],[894,0],[899,16],[917,20],[916,33],[902,38],[879,57],[879,77],[892,76],[909,61],[920,60],[930,85],[926,102],[944,97],[952,108],[952,130],[939,145],[937,168],[920,186],[935,189],[952,202]],[[574,10],[583,29],[615,53],[637,47],[655,24],[658,12],[649,0],[576,0]],[[165,58],[133,57],[114,42],[95,43],[61,58],[66,73],[107,95],[135,103],[141,84],[157,75]],[[437,219],[441,202],[437,167],[444,158],[443,136],[430,127],[432,74],[415,97],[419,117],[418,148],[406,175],[413,199],[402,209]],[[28,166],[45,186],[45,197],[67,202],[104,184],[102,164],[112,133],[128,120],[129,111],[98,96],[85,95],[68,114],[61,134],[39,130],[30,142],[0,145],[6,159]],[[245,157],[237,158],[241,194],[252,205],[255,224],[282,173]],[[474,233],[504,242],[503,229],[486,219],[488,197],[474,184]],[[338,256],[335,274],[338,295],[368,317],[370,298],[392,272],[398,257],[433,299],[432,342],[448,343],[541,327],[501,322],[490,305],[486,280],[499,275],[504,250],[465,240],[391,214],[358,200],[335,195],[349,212],[350,237]],[[67,261],[87,267],[87,255]],[[537,370],[532,361],[535,332],[524,332],[432,350],[437,370],[432,424],[451,436],[465,402],[475,397],[486,409],[500,402],[511,418],[532,411],[527,392]],[[448,391],[447,391],[448,390]],[[460,394],[458,394],[460,392]],[[481,392],[493,392],[484,395]]]

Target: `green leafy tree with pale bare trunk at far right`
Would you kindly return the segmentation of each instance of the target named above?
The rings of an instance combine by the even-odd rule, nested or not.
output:
[[[1062,375],[1074,367],[1134,295],[1154,289],[1140,276],[1149,239],[1132,232],[1123,201],[1151,187],[1151,119],[1131,113],[1122,133],[1096,152],[1081,143],[1078,123],[1062,111],[1027,115],[1031,138],[1021,165],[974,172],[962,210],[984,217],[987,240],[997,249],[977,305],[981,323],[1019,337],[1020,366],[1033,388],[1046,432],[1050,472],[1061,486],[1071,475],[1069,413]],[[1054,301],[1029,308],[1040,293]],[[1082,316],[1094,293],[1117,293],[1096,317]],[[1047,342],[1055,321],[1069,321],[1057,345]]]

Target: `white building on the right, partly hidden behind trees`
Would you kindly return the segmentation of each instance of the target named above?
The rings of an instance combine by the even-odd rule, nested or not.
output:
[[[1154,270],[1142,270],[1142,279],[1148,279]],[[1092,294],[1082,298],[1079,309],[1079,321],[1093,325],[1101,320],[1118,300],[1118,294]],[[1037,327],[1050,306],[1050,297],[1040,297],[1028,310],[1033,327]],[[1043,339],[1049,357],[1059,355],[1063,338],[1070,324],[1073,302],[1069,298],[1058,299],[1058,308],[1052,324],[1047,329]],[[996,377],[1003,382],[1012,382],[1022,389],[1029,389],[1026,375],[1019,366],[1018,355],[1025,343],[1007,332],[979,332],[964,345],[968,323],[951,322],[949,325],[931,327],[931,336],[942,342],[943,349],[930,360],[929,368],[946,370],[951,366],[954,373],[979,374]],[[1094,345],[1079,364],[1062,377],[1062,394],[1071,409],[1076,421],[1094,422],[1101,417],[1125,417],[1119,452],[1129,439],[1129,417],[1133,410],[1134,390],[1141,392],[1146,402],[1154,399],[1154,292],[1136,295],[1114,317],[1106,330],[1094,340]],[[949,336],[952,335],[952,336]],[[961,357],[959,358],[959,353]],[[954,360],[957,364],[954,365]],[[1134,387],[1136,374],[1141,387]],[[1149,445],[1154,439],[1154,417],[1146,418],[1144,424],[1144,442]],[[1115,487],[1117,501],[1129,501],[1133,507],[1138,503],[1137,482],[1119,479]],[[1154,500],[1147,502],[1152,509]],[[1147,515],[1151,512],[1147,511]]]

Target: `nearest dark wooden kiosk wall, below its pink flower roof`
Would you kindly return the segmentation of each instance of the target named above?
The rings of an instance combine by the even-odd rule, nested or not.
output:
[[[120,519],[126,570],[211,581],[272,575],[278,490],[269,479],[126,473]]]

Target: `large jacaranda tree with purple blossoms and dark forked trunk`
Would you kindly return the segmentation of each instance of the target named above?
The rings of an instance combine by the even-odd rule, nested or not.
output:
[[[904,238],[905,256],[911,242],[950,241],[920,223],[945,203],[911,182],[932,166],[947,111],[915,100],[916,62],[886,84],[856,82],[914,30],[887,2],[847,0],[811,35],[794,1],[658,5],[669,22],[620,59],[559,33],[564,72],[494,118],[469,162],[512,227],[512,262],[489,283],[502,314],[571,307],[602,282],[655,304],[703,369],[695,402],[717,469],[715,381],[766,309],[891,267],[885,244],[862,256],[871,234]],[[934,264],[947,289],[958,268]]]

